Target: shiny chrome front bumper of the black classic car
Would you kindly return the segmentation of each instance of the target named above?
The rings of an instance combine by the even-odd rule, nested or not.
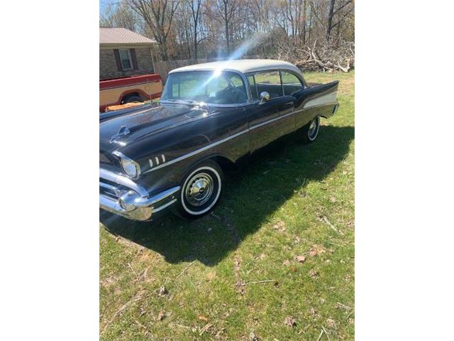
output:
[[[117,186],[118,185],[118,186]],[[175,186],[160,193],[149,195],[141,186],[123,175],[99,170],[99,207],[131,220],[146,221],[152,215],[177,202]]]

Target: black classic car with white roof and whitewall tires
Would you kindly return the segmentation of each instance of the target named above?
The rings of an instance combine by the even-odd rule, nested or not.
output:
[[[223,169],[284,136],[314,141],[337,89],[279,60],[172,70],[159,104],[100,115],[99,205],[132,220],[201,217],[221,197]]]

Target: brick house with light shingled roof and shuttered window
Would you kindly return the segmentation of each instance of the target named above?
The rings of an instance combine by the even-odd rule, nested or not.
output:
[[[99,28],[99,80],[154,73],[151,40],[126,28]]]

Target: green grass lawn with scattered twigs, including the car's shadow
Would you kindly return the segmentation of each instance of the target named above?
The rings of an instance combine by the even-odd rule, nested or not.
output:
[[[228,175],[201,220],[100,223],[101,340],[353,340],[355,74],[305,77],[341,81],[314,144]]]

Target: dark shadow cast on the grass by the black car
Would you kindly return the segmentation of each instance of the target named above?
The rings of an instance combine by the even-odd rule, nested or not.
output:
[[[226,175],[221,201],[199,220],[169,214],[154,222],[133,222],[100,210],[100,222],[111,234],[156,251],[169,263],[199,260],[214,266],[270,220],[295,191],[304,193],[306,183],[326,178],[348,155],[354,135],[353,126],[321,126],[313,144],[267,148],[265,156]]]

